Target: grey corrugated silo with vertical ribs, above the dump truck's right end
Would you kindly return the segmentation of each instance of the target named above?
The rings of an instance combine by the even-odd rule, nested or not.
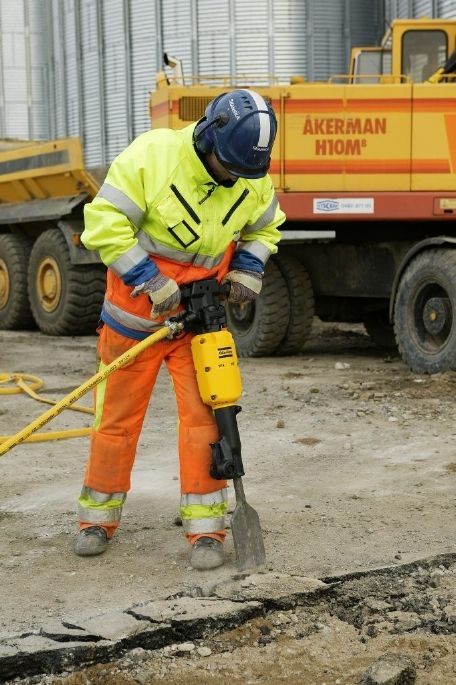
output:
[[[52,0],[53,135],[80,136],[89,167],[150,127],[156,14],[148,0]]]

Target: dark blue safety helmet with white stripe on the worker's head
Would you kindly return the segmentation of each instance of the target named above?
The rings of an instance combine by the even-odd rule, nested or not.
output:
[[[215,153],[233,176],[262,178],[268,173],[277,132],[272,107],[254,90],[223,93],[206,107],[193,133],[201,154]]]

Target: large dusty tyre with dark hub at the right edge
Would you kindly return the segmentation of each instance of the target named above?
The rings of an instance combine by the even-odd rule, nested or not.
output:
[[[399,282],[394,331],[415,373],[456,369],[456,250],[426,250]]]

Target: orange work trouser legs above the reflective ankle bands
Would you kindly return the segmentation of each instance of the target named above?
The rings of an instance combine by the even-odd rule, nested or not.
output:
[[[193,365],[191,334],[162,340],[109,375],[95,389],[95,420],[84,486],[101,493],[126,493],[136,446],[157,374],[165,362],[171,374],[179,415],[181,493],[207,494],[226,488],[209,475],[210,443],[218,439],[212,409],[200,397]],[[136,344],[104,325],[98,354],[109,364]],[[160,426],[157,425],[157,430]],[[87,525],[81,521],[83,527]],[[93,525],[93,524],[92,524]],[[109,526],[112,534],[117,524]],[[220,531],[220,536],[223,537]],[[191,536],[192,537],[192,536]],[[215,535],[214,535],[215,537]]]

